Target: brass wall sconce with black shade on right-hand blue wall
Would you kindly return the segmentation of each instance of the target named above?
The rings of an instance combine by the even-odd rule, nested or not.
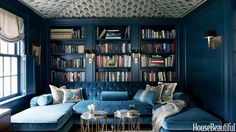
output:
[[[215,29],[209,29],[205,32],[204,38],[207,39],[208,48],[215,49],[222,42],[222,37],[216,35]]]

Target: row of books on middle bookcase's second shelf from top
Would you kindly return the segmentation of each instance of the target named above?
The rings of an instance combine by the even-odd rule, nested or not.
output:
[[[131,53],[131,44],[100,43],[96,46],[96,51],[98,53]]]

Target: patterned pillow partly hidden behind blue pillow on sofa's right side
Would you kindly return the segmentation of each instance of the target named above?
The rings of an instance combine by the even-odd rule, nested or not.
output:
[[[161,93],[162,93],[162,90],[163,90],[164,86],[165,85],[163,85],[163,84],[159,84],[157,86],[151,86],[151,85],[147,84],[145,90],[155,91],[157,93],[155,102],[156,103],[161,103]]]

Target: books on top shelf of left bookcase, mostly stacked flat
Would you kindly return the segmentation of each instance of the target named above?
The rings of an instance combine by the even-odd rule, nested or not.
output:
[[[81,29],[54,28],[51,29],[51,39],[83,39],[86,38],[85,27]]]

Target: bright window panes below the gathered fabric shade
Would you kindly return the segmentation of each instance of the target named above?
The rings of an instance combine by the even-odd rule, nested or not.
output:
[[[9,43],[0,39],[0,101],[21,93],[21,57],[23,42]]]

